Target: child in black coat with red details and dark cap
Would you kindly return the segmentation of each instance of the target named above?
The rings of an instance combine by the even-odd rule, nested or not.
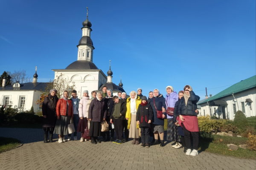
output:
[[[141,146],[140,147],[150,147],[150,123],[153,118],[153,111],[151,105],[147,102],[147,97],[142,96],[142,102],[136,113],[136,121],[140,125],[141,130]]]

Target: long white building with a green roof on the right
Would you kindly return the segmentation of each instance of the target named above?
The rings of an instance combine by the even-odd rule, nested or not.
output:
[[[246,117],[256,116],[256,76],[242,80],[197,104],[202,116],[233,120],[238,110]]]

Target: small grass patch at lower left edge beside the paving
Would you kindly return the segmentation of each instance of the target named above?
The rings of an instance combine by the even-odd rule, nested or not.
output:
[[[0,137],[0,153],[20,146],[20,141],[13,138]]]

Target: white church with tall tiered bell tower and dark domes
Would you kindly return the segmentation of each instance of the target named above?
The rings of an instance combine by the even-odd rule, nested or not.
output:
[[[65,79],[70,86],[75,85],[74,89],[79,97],[82,96],[84,90],[88,90],[90,95],[92,91],[102,90],[100,89],[102,85],[107,83],[106,75],[93,63],[93,50],[95,48],[90,38],[92,24],[88,20],[88,15],[82,24],[82,37],[77,45],[77,61],[72,62],[65,69],[53,69],[55,72],[54,80]],[[112,74],[108,76],[108,82],[111,81],[111,83]],[[123,92],[122,87],[119,88]],[[111,89],[114,90],[113,87]]]

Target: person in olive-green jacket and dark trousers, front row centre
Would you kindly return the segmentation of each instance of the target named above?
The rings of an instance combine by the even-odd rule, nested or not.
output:
[[[115,105],[110,119],[110,122],[114,124],[116,132],[116,140],[113,141],[113,143],[122,144],[122,133],[124,129],[123,119],[126,113],[126,105],[118,96],[113,96],[113,101]]]

